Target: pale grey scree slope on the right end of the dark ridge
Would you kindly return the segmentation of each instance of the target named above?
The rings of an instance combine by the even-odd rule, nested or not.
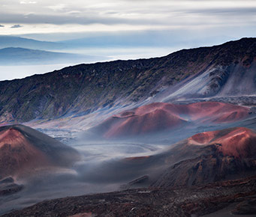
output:
[[[255,71],[253,62],[248,67],[240,62],[229,66],[215,66],[198,74],[193,79],[188,78],[181,83],[167,88],[158,99],[164,102],[176,100],[179,97],[234,97],[255,95]]]

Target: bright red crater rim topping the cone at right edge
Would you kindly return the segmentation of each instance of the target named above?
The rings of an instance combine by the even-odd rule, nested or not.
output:
[[[217,144],[224,156],[256,156],[256,133],[245,127],[203,132],[188,138],[190,144]]]

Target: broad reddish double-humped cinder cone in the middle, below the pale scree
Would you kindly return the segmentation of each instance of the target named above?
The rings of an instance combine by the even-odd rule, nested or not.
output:
[[[188,105],[152,103],[124,111],[99,126],[105,138],[143,135],[172,129],[189,122],[230,123],[248,116],[249,108],[227,103],[203,102]]]

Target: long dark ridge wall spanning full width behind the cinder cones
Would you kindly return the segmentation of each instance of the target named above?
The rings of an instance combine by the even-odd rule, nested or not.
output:
[[[188,92],[194,97],[221,93],[227,96],[233,95],[234,90],[244,90],[245,86],[242,94],[254,94],[255,46],[255,38],[243,38],[220,46],[184,49],[162,58],[81,64],[0,82],[0,120],[24,122],[82,116],[100,108],[122,108],[150,97],[154,97],[153,101],[176,100],[189,95]],[[233,83],[238,73],[239,82]],[[208,82],[203,83],[206,88],[185,88],[174,98],[170,96],[190,82],[197,82],[202,75],[209,76]]]

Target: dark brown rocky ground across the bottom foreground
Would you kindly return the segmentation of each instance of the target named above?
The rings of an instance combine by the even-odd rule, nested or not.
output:
[[[256,177],[186,188],[60,198],[4,216],[203,216],[230,205],[234,207],[232,216],[256,215]]]

